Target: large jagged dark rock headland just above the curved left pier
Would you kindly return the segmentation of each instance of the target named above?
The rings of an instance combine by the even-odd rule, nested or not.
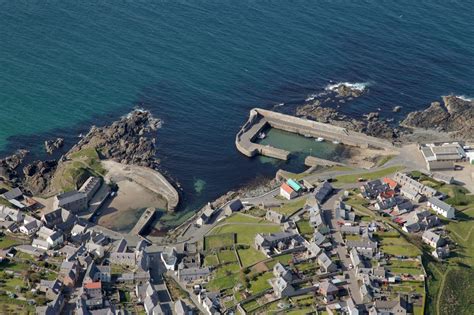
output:
[[[160,123],[149,112],[134,111],[109,126],[92,127],[68,155],[94,148],[105,159],[155,168],[158,165],[155,139],[148,135],[157,130]]]

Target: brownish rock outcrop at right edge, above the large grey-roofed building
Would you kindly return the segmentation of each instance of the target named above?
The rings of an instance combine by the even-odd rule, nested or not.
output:
[[[401,125],[450,132],[456,137],[472,139],[474,135],[474,101],[453,95],[444,96],[443,104],[433,102],[425,110],[409,113]]]

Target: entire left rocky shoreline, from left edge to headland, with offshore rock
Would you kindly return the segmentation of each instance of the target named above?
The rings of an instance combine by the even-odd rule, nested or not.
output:
[[[28,154],[26,150],[1,159],[0,178],[32,195],[41,195],[50,190],[50,183],[62,163],[74,153],[91,148],[98,152],[101,159],[157,170],[159,160],[155,156],[155,138],[152,133],[160,126],[161,121],[150,112],[134,110],[110,125],[93,126],[87,135],[58,159],[36,160],[22,165]],[[45,149],[52,154],[63,145],[64,140],[57,138],[46,141]]]

